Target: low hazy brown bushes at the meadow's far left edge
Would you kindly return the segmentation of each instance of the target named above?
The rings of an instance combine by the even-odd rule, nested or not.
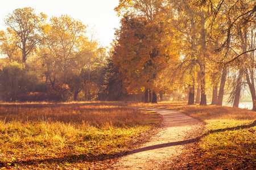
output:
[[[38,73],[26,71],[18,62],[9,62],[0,75],[0,92],[5,101],[66,101],[70,89],[64,83],[40,83]]]

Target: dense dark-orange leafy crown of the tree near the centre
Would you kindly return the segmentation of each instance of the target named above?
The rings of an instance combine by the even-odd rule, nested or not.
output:
[[[113,62],[129,93],[144,88],[158,91],[154,80],[170,58],[171,48],[164,41],[167,35],[164,24],[150,22],[141,16],[125,16],[117,31]]]

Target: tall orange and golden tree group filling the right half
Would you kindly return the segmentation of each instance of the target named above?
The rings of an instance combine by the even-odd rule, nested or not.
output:
[[[248,88],[255,110],[255,9],[247,0],[119,1],[112,56],[123,88],[146,103],[151,92],[183,91],[188,104],[228,96],[234,107]]]

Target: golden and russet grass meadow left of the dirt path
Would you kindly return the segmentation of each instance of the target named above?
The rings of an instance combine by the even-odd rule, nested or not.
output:
[[[121,103],[2,103],[0,169],[106,169],[160,121]]]

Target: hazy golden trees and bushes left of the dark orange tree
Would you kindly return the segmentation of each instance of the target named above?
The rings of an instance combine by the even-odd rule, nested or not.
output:
[[[86,25],[31,7],[6,16],[0,32],[1,96],[6,101],[93,100],[103,82],[106,49]],[[80,94],[80,95],[79,95]]]

